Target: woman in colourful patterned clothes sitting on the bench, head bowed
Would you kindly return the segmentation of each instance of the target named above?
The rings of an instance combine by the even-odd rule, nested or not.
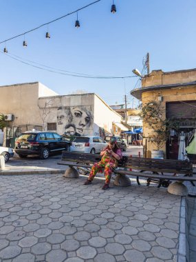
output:
[[[116,140],[109,141],[109,144],[105,149],[100,152],[102,159],[98,163],[94,163],[89,174],[89,178],[85,182],[85,185],[91,184],[97,172],[102,172],[104,170],[105,174],[105,185],[103,185],[102,190],[109,188],[109,182],[111,179],[111,173],[118,167],[118,161],[122,159],[122,152],[118,148],[118,143]]]

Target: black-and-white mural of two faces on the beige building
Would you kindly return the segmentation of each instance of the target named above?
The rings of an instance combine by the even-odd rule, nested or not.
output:
[[[59,134],[86,135],[92,128],[91,106],[59,107],[57,110],[57,130]]]

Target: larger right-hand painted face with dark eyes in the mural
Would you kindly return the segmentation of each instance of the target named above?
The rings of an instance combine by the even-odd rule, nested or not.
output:
[[[78,134],[83,134],[84,129],[89,128],[92,122],[91,112],[85,107],[75,107],[70,109],[72,112],[72,123],[76,127]]]

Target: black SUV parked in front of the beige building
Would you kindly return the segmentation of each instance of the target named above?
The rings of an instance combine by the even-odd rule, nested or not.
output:
[[[24,132],[16,141],[15,152],[21,158],[38,155],[47,159],[50,154],[69,150],[70,143],[54,132]]]

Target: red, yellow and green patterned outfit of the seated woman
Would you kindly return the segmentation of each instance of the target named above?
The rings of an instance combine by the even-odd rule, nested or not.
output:
[[[122,152],[120,149],[116,151],[116,154],[118,154],[120,159],[122,158]],[[102,172],[104,170],[105,183],[109,184],[111,179],[111,173],[117,167],[118,167],[118,160],[115,157],[113,157],[111,154],[109,154],[109,152],[105,152],[102,156],[101,161],[99,161],[98,163],[94,163],[94,165],[92,166],[88,180],[92,181],[96,176],[97,172]]]

